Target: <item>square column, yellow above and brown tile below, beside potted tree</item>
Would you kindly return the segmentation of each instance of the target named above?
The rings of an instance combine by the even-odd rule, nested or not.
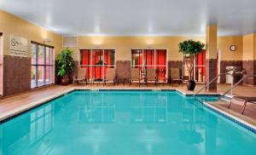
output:
[[[217,76],[217,26],[207,26],[207,68],[206,83]],[[217,80],[207,87],[207,91],[217,90]]]

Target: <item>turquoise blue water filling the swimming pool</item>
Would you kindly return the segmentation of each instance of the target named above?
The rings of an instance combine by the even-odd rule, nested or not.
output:
[[[255,155],[256,135],[175,91],[73,91],[2,123],[0,154]]]

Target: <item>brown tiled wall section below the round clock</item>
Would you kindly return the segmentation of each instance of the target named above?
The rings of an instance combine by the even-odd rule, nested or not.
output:
[[[242,60],[221,60],[220,61],[220,72],[226,72],[226,66],[236,66],[236,71],[241,72]],[[241,79],[241,76],[235,76],[234,82],[236,83]],[[226,83],[226,76],[220,76],[219,83]]]

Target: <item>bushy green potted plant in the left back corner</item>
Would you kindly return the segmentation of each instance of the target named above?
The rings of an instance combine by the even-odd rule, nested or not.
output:
[[[66,48],[61,51],[61,54],[59,54],[56,59],[57,75],[61,78],[62,85],[67,85],[69,83],[68,77],[75,67],[72,54],[73,51]]]

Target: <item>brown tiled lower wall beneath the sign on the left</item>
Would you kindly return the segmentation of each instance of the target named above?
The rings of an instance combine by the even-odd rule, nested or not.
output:
[[[4,55],[3,95],[31,89],[31,58]]]

